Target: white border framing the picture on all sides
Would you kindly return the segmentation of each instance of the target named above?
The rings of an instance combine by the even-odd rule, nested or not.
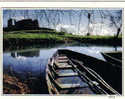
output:
[[[72,7],[75,7],[75,8],[97,8],[97,7],[100,7],[100,8],[125,8],[125,2],[39,2],[39,3],[35,3],[35,2],[13,2],[13,3],[8,3],[8,2],[2,2],[0,3],[0,7],[4,7],[4,8],[14,8],[14,7],[21,7],[21,8],[45,8],[45,7],[49,7],[49,8],[72,8]],[[123,10],[125,13],[125,10]],[[0,15],[2,16],[2,11],[1,11],[1,8],[0,8]],[[0,16],[0,66],[2,66],[3,62],[3,58],[2,58],[2,48],[3,48],[3,34],[2,34],[2,17]],[[123,22],[125,23],[125,22]],[[123,24],[123,27],[125,27],[125,24]],[[124,42],[124,39],[123,39],[123,42]],[[123,46],[124,47],[124,46]],[[124,53],[123,53],[124,54]],[[1,67],[2,68],[2,67]],[[124,69],[124,68],[123,68]],[[124,70],[123,70],[124,71]],[[0,72],[2,72],[2,69],[0,69]],[[2,73],[1,73],[2,74]],[[0,75],[1,76],[1,75]],[[2,78],[2,77],[0,77]],[[2,80],[2,79],[1,79]],[[0,83],[1,85],[2,83]],[[2,87],[2,86],[1,86]],[[123,86],[124,87],[124,86]],[[125,88],[124,88],[125,89]],[[0,90],[1,92],[1,90]],[[125,95],[125,94],[124,94]],[[33,95],[31,95],[33,96]],[[5,96],[1,96],[1,98],[10,98],[9,96],[5,97]],[[12,98],[13,99],[22,99],[23,97],[25,96],[13,96]],[[28,98],[28,97],[25,97],[25,98]],[[35,97],[29,97],[29,98],[35,98]],[[54,98],[54,99],[58,99],[58,98],[61,98],[61,99],[64,99],[64,98],[72,98],[72,99],[75,99],[75,98],[79,98],[79,99],[83,99],[83,98],[87,98],[87,99],[114,99],[114,98],[119,98],[119,99],[122,99],[124,98],[123,96],[54,96],[54,97],[47,97],[47,96],[37,96],[37,98]]]

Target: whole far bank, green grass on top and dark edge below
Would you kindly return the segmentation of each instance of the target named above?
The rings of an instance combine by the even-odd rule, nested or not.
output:
[[[29,45],[47,45],[57,43],[90,43],[100,45],[120,45],[122,36],[114,39],[113,36],[78,36],[55,31],[25,30],[4,32],[4,49],[20,49]]]

